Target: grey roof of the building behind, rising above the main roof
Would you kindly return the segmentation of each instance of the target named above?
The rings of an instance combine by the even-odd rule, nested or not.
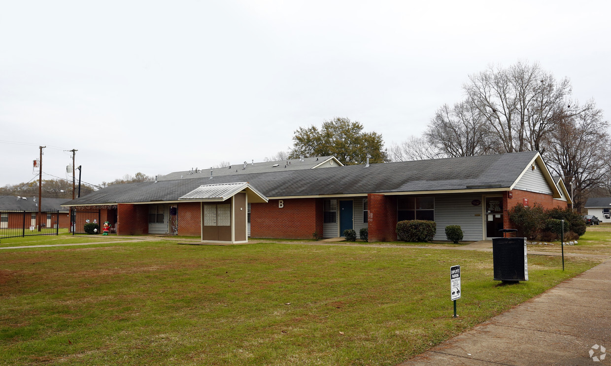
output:
[[[218,176],[240,176],[243,174],[251,173],[270,173],[272,171],[290,171],[290,170],[302,170],[302,169],[315,169],[315,168],[331,168],[331,167],[343,167],[343,164],[335,159],[334,156],[319,156],[319,157],[304,157],[300,159],[289,159],[279,160],[276,162],[260,162],[260,163],[247,163],[233,164],[228,168],[214,168],[214,169],[198,169],[186,170],[186,171],[175,171],[164,176],[159,177],[158,181],[174,181],[175,179],[197,179],[197,178],[210,178],[210,171],[212,171],[213,177]]]

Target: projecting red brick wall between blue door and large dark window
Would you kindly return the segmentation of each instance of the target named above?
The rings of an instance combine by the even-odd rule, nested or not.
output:
[[[367,195],[368,232],[370,242],[397,240],[397,198],[375,193]]]

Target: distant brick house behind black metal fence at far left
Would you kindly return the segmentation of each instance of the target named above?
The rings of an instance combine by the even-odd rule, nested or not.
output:
[[[42,198],[41,215],[38,216],[38,198],[5,196],[0,197],[0,229],[15,229],[36,226],[42,223],[46,228],[67,229],[70,227],[70,210],[61,204],[68,201],[65,198]],[[24,216],[24,211],[26,212]],[[58,212],[59,213],[51,213]]]

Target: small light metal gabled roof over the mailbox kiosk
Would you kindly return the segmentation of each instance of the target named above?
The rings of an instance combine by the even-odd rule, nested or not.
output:
[[[222,202],[232,198],[238,192],[245,191],[251,203],[266,203],[268,199],[251,187],[248,182],[200,185],[186,195],[178,197],[179,201]]]

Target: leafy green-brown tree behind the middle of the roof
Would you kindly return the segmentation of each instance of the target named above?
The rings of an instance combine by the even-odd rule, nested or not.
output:
[[[324,121],[320,129],[316,126],[299,127],[293,135],[289,157],[335,156],[346,165],[365,163],[367,155],[371,156],[371,163],[387,161],[382,135],[364,132],[363,128],[359,122],[341,117]]]

